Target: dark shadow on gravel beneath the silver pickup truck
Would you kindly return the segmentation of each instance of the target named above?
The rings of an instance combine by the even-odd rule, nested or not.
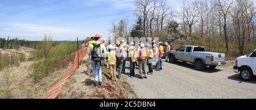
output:
[[[181,61],[177,61],[175,63],[175,65],[179,65],[180,67],[184,67],[184,68],[189,68],[189,69],[193,69],[194,71],[197,71],[195,69],[195,65],[193,64],[190,64],[190,63],[183,63]],[[206,67],[203,71],[200,71],[200,72],[205,72],[205,73],[217,73],[217,72],[220,72],[222,71],[221,69],[212,69],[212,68],[209,68],[209,67]]]

